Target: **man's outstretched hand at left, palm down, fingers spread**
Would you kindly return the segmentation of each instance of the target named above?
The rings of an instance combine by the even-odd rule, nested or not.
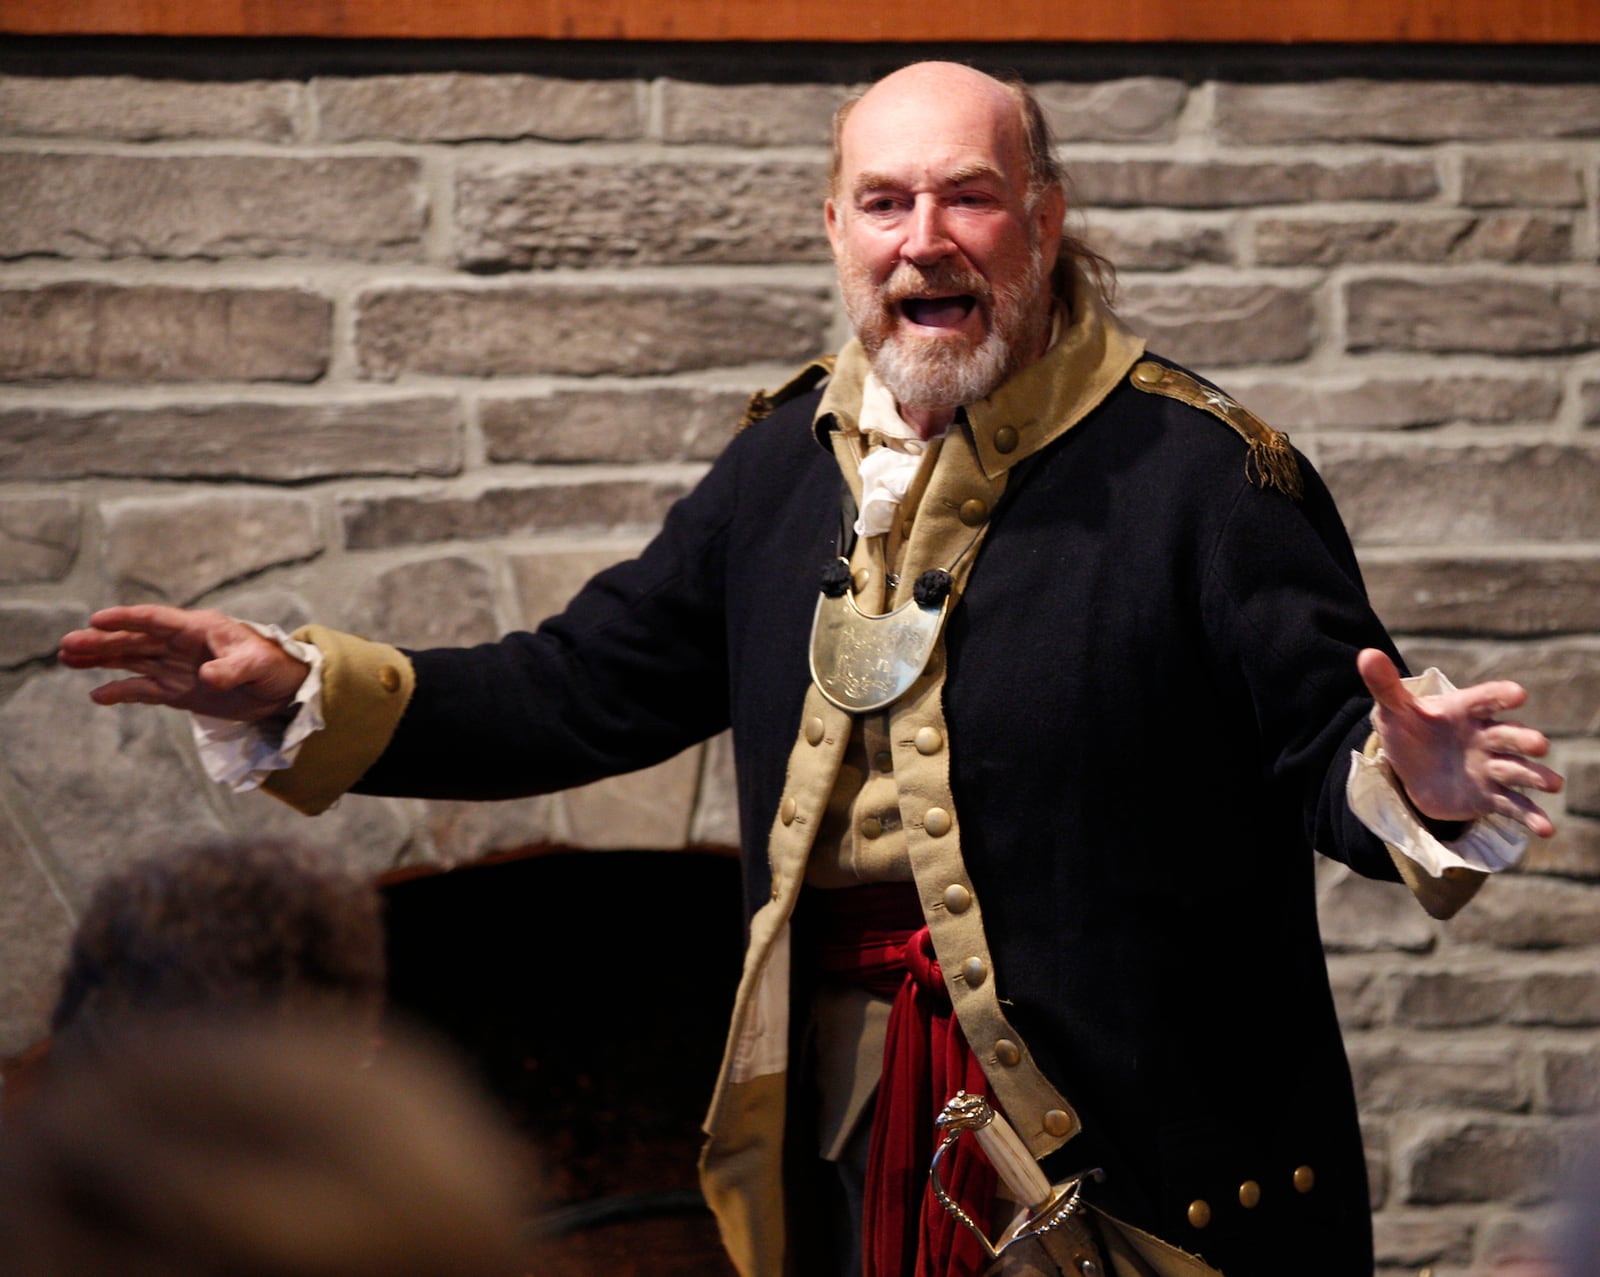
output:
[[[106,608],[61,640],[61,664],[125,669],[134,677],[94,688],[102,706],[173,706],[258,723],[288,712],[310,667],[219,611]]]

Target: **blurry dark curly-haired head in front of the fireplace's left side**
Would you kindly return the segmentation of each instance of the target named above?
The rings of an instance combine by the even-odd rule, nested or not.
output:
[[[128,866],[96,888],[51,1016],[59,1056],[165,1018],[325,1018],[376,1029],[376,887],[286,843],[216,842]]]

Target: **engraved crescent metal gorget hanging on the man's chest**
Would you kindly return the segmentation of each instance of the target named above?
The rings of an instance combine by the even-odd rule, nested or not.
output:
[[[928,667],[949,605],[946,589],[938,603],[912,598],[894,611],[867,616],[848,589],[819,595],[811,619],[811,679],[818,690],[850,714],[893,704]]]

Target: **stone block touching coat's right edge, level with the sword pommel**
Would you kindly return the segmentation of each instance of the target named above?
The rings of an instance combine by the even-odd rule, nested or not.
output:
[[[1528,1103],[1512,1043],[1350,1047],[1350,1074],[1362,1112],[1483,1109],[1517,1112]]]

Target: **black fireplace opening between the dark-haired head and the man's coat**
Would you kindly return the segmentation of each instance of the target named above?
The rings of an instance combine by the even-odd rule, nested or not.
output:
[[[541,851],[389,882],[390,1005],[528,1151],[530,1272],[733,1269],[696,1183],[739,976],[728,855]]]

